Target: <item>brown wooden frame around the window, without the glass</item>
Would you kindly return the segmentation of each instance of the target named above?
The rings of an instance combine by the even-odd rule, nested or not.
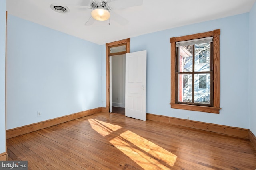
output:
[[[213,106],[197,106],[190,104],[179,104],[176,102],[176,42],[187,41],[199,38],[213,37],[213,56],[212,56],[212,86],[213,86]],[[182,37],[170,38],[171,43],[171,108],[207,113],[220,113],[220,29],[214,31],[186,35]]]

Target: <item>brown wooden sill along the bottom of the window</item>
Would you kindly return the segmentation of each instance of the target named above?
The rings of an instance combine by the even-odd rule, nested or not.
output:
[[[220,113],[220,109],[218,107],[208,107],[208,106],[196,106],[196,105],[188,105],[188,104],[176,104],[170,103],[171,108],[173,109],[183,109],[183,110],[192,110],[192,111],[202,111],[207,113]]]

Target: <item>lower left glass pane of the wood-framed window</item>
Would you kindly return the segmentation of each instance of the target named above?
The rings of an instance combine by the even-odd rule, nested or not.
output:
[[[179,102],[192,102],[192,74],[179,75]]]

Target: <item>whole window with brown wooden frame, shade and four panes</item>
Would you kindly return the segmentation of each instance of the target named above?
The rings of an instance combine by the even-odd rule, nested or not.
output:
[[[219,113],[220,29],[174,37],[171,43],[171,108]]]

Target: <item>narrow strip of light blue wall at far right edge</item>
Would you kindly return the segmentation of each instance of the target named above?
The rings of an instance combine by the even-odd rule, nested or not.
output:
[[[250,104],[250,130],[256,135],[256,3],[249,13],[249,104]]]

